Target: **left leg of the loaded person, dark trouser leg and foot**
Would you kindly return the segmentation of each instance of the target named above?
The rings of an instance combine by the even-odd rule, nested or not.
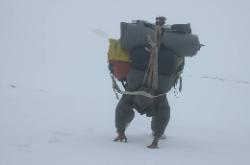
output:
[[[123,95],[115,110],[115,126],[118,133],[115,141],[127,141],[125,129],[134,118],[134,111],[131,104],[131,95]]]

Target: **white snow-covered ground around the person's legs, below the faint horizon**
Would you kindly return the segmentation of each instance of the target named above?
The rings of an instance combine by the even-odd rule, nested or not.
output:
[[[112,141],[114,100],[1,86],[0,164],[249,164],[244,92],[250,86],[200,83],[217,94],[210,88],[169,94],[172,117],[158,150],[145,147],[152,140],[150,119],[140,115],[128,128],[127,144]]]

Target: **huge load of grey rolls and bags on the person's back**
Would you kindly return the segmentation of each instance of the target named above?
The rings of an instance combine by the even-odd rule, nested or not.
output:
[[[156,35],[156,25],[136,21],[121,22],[119,40],[110,39],[108,60],[111,73],[120,81],[126,81],[127,91],[136,91],[145,83],[152,52],[149,39]],[[180,77],[185,60],[201,47],[198,36],[191,33],[190,24],[161,26],[158,54],[158,91],[167,93]],[[151,45],[152,46],[152,45]]]

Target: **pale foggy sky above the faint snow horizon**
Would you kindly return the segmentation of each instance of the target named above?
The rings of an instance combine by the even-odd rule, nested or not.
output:
[[[108,42],[121,21],[191,23],[204,47],[186,76],[250,80],[248,0],[0,0],[0,82],[76,94],[110,87]]]

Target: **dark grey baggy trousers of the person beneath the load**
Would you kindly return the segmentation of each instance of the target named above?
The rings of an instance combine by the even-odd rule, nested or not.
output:
[[[115,125],[118,133],[124,133],[126,126],[133,120],[135,113],[133,111],[134,103],[131,95],[123,95],[117,104],[115,111]],[[154,136],[160,137],[169,122],[170,107],[167,98],[164,96],[154,103],[154,115],[151,120],[151,129]]]

